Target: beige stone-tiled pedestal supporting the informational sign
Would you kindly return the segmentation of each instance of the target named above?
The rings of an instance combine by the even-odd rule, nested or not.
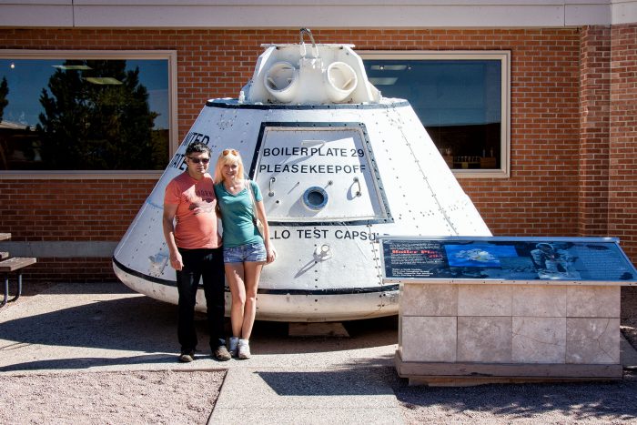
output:
[[[621,379],[620,289],[401,283],[396,369],[412,385]]]

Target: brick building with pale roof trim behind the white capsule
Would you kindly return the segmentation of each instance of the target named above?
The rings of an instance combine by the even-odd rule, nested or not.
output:
[[[0,250],[38,257],[29,279],[116,279],[113,249],[206,100],[237,97],[261,45],[297,43],[300,26],[318,43],[355,45],[364,60],[502,54],[499,166],[459,166],[460,185],[495,236],[617,237],[637,260],[637,1],[23,3],[0,0],[0,60],[10,66],[141,55],[165,60],[168,79],[163,166],[47,169],[33,154],[19,165],[11,151],[0,231],[13,237]],[[9,85],[8,96],[20,89]]]

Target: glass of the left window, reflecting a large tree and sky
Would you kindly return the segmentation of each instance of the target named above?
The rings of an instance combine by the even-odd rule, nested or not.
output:
[[[8,55],[0,51],[0,173],[166,167],[168,57]]]

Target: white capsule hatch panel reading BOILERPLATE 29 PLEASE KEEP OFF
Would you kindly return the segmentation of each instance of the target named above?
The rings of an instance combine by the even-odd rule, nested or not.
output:
[[[362,123],[264,123],[251,174],[271,223],[391,221]]]

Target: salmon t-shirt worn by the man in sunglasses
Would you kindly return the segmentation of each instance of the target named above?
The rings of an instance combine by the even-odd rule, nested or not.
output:
[[[217,230],[217,197],[212,177],[205,174],[200,180],[182,173],[166,187],[164,204],[177,205],[175,214],[175,242],[178,248],[219,248],[221,237]]]

